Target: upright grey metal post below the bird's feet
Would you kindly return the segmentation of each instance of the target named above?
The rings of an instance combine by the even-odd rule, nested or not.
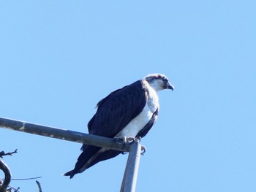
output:
[[[141,145],[140,142],[134,141],[130,146],[127,166],[125,168],[121,192],[135,192],[138,169],[140,164]]]

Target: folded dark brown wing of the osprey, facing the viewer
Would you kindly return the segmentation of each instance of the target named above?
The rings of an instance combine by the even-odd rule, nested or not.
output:
[[[142,80],[118,89],[97,104],[97,112],[88,123],[89,133],[115,137],[142,112],[145,105],[146,94]]]

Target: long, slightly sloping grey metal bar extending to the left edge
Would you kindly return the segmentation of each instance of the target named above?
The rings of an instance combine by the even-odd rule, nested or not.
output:
[[[83,134],[76,131],[69,131],[49,126],[40,126],[33,123],[26,123],[20,120],[11,120],[7,118],[0,118],[0,127],[14,131],[26,132],[29,134],[37,134],[45,137],[52,137],[71,142],[80,142],[87,145],[94,145],[97,147],[105,147],[112,150],[129,152],[129,145],[120,144],[116,142],[115,139],[100,137],[93,134]]]

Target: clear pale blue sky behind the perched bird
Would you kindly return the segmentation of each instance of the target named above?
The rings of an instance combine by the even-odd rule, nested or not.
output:
[[[160,72],[176,89],[159,93],[137,191],[256,191],[255,53],[255,1],[1,1],[0,116],[87,132],[100,99]],[[4,158],[13,178],[119,191],[127,155],[69,180],[80,144],[0,136],[0,150],[18,148]]]

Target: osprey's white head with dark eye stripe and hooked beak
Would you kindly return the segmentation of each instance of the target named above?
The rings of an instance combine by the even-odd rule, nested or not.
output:
[[[165,76],[165,74],[148,74],[144,77],[144,80],[148,82],[151,88],[154,88],[155,91],[161,91],[164,89],[170,89],[173,91],[174,87],[170,84],[170,81]]]

